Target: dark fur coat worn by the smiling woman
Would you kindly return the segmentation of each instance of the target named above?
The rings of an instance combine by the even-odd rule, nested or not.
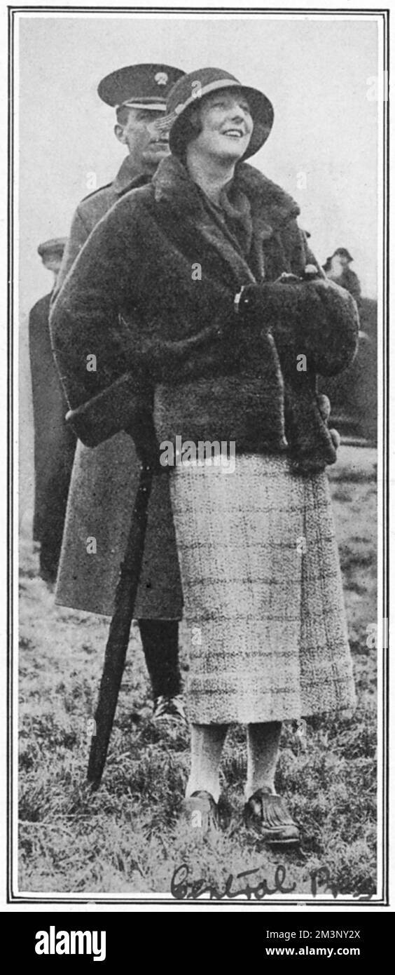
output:
[[[234,441],[236,453],[289,450],[316,470],[336,459],[316,377],[352,361],[356,305],[325,279],[280,187],[239,164],[228,196],[243,243],[174,157],[100,220],[52,314],[66,395],[81,407],[129,372],[121,425],[153,456],[181,435]],[[308,264],[318,282],[303,280]]]

